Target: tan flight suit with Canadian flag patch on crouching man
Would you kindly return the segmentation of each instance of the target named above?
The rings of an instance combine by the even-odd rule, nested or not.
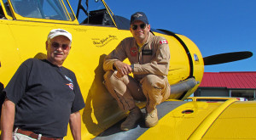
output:
[[[156,105],[170,96],[170,85],[167,80],[170,62],[168,42],[162,36],[153,36],[148,32],[147,42],[138,52],[138,45],[133,37],[127,37],[119,43],[104,59],[103,69],[105,85],[125,111],[135,107],[135,100],[147,99],[147,111],[151,112]],[[129,59],[134,64],[133,77],[116,76],[113,70],[114,61]]]

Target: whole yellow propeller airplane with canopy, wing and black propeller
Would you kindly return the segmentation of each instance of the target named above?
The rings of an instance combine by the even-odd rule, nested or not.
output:
[[[130,21],[114,15],[104,0],[86,0],[75,15],[66,0],[0,0],[0,90],[28,58],[44,59],[49,31],[62,28],[72,33],[73,49],[64,66],[73,70],[83,93],[83,139],[255,139],[256,102],[185,102],[200,85],[204,65],[247,59],[251,52],[223,53],[202,58],[188,37],[166,30],[152,30],[169,42],[171,61],[168,80],[170,99],[160,104],[159,124],[141,123],[119,132],[123,113],[102,84],[102,61],[127,36]],[[84,5],[84,6],[83,6]],[[90,8],[90,9],[89,9]],[[79,23],[79,14],[87,18]],[[128,63],[128,61],[126,61]],[[0,92],[1,92],[0,91]],[[145,103],[137,103],[140,108]],[[70,130],[65,139],[72,139]]]

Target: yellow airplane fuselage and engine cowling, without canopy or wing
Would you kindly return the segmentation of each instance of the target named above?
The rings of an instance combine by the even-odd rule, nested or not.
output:
[[[1,5],[4,3],[1,1]],[[0,82],[6,86],[20,64],[29,58],[46,58],[45,42],[50,30],[61,28],[73,35],[71,51],[64,66],[73,70],[83,93],[85,108],[82,131],[84,137],[94,137],[112,126],[125,114],[118,108],[114,99],[104,87],[102,69],[103,59],[125,37],[131,36],[129,30],[119,30],[114,25],[79,25],[78,20],[49,20],[23,17],[10,6],[12,14],[3,9],[5,18],[0,19]],[[171,85],[195,77],[201,82],[204,63],[200,50],[188,37],[154,32],[156,36],[165,36],[168,40],[171,61],[168,80]],[[128,60],[125,60],[129,64]],[[183,93],[172,96],[173,99],[189,97],[199,84]],[[172,90],[172,89],[171,89]],[[141,105],[140,105],[141,104]],[[139,106],[143,107],[143,103]],[[86,135],[86,136],[85,136]],[[68,131],[67,139],[72,135]],[[65,138],[66,139],[66,138]]]

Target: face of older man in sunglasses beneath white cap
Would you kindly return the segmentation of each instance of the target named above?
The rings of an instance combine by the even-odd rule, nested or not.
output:
[[[66,36],[55,36],[46,42],[47,60],[57,66],[62,66],[71,49],[71,42]]]

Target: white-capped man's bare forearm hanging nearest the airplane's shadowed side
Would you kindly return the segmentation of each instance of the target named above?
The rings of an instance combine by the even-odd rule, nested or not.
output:
[[[70,115],[69,126],[74,140],[81,140],[81,115],[75,112]]]

